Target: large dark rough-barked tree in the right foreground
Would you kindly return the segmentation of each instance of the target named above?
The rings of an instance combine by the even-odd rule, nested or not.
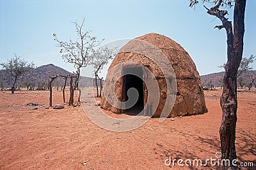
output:
[[[203,0],[203,2],[212,2]],[[220,26],[214,28],[225,29],[227,33],[227,64],[225,65],[225,75],[223,77],[223,93],[220,99],[220,105],[223,112],[220,141],[222,159],[236,160],[236,121],[237,121],[237,70],[243,56],[244,39],[244,12],[246,0],[218,0],[215,5],[207,8],[207,13],[221,20]],[[234,3],[233,3],[234,2]],[[198,4],[197,0],[190,0],[189,6]],[[220,10],[221,6],[227,5],[230,8],[234,6],[234,27],[232,22],[225,16],[227,10]],[[234,33],[233,33],[234,31]],[[238,169],[234,164],[223,164],[222,169]]]

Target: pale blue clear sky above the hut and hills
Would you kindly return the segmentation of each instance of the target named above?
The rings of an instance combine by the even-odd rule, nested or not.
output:
[[[200,75],[223,71],[218,66],[227,61],[226,33],[213,29],[220,20],[208,15],[202,3],[195,10],[188,5],[188,0],[0,0],[0,63],[16,53],[36,66],[52,63],[73,72],[52,34],[63,41],[76,40],[72,22],[84,18],[84,30],[91,29],[99,40],[105,38],[104,43],[159,33],[188,51]],[[256,1],[247,0],[244,57],[256,55],[255,9]],[[255,69],[256,62],[252,66]],[[83,75],[92,74],[90,68],[83,70]]]

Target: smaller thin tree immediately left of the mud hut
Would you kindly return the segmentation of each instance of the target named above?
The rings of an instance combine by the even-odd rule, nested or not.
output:
[[[117,47],[113,49],[108,49],[108,47],[100,47],[97,50],[93,50],[92,52],[92,65],[93,65],[93,72],[95,76],[95,85],[97,88],[97,97],[101,97],[102,91],[102,79],[99,78],[99,73],[103,69],[105,65],[108,65],[109,60],[113,59],[116,55]],[[100,94],[99,88],[97,84],[97,78],[100,79]]]

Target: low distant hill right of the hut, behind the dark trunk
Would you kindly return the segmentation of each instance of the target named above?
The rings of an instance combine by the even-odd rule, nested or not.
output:
[[[210,73],[210,74],[207,74],[207,75],[201,75],[200,79],[201,79],[202,86],[209,86],[209,83],[211,81],[212,81],[212,84],[215,87],[222,86],[222,82],[221,81],[223,80],[224,73],[225,72],[218,72],[218,73]],[[252,82],[251,75],[253,77],[256,77],[256,70],[243,72],[240,75],[239,79],[243,80],[242,83],[244,83],[244,87],[247,86],[248,82]],[[237,86],[239,86],[239,82],[237,82]]]

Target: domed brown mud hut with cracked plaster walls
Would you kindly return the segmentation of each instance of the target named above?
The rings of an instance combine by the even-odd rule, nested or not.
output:
[[[137,42],[135,42],[133,46],[129,46],[129,43],[132,42],[131,40],[122,47],[109,66],[107,77],[110,74],[109,72],[111,72],[111,69],[115,68],[116,65],[125,63],[118,68],[118,70],[122,72],[122,75],[116,76],[121,77],[118,77],[116,81],[109,81],[112,78],[109,80],[106,78],[106,81],[104,82],[104,95],[101,99],[101,107],[103,109],[115,113],[131,115],[136,115],[143,111],[145,116],[161,116],[165,107],[164,105],[167,105],[166,107],[172,105],[171,109],[167,109],[168,113],[166,117],[189,116],[207,112],[204,91],[202,90],[200,77],[196,70],[195,63],[190,58],[188,52],[186,52],[179,43],[156,33],[149,33],[134,38],[133,41],[134,40]],[[147,46],[145,49],[150,49],[150,51],[148,51],[148,53],[143,53],[133,50],[132,48],[136,49],[140,46],[138,45],[138,41],[145,42],[146,45],[144,45],[144,47]],[[160,53],[152,52],[152,47],[150,47],[150,45],[148,46],[148,44],[158,49],[163,56],[161,56]],[[152,54],[153,57],[150,58],[146,54]],[[163,58],[166,58],[166,61],[168,62],[164,61]],[[166,73],[163,72],[164,69],[161,68],[162,66],[159,66],[159,64],[154,61],[157,59],[159,60],[158,63],[164,63],[167,66],[166,69],[173,68],[173,75],[166,77]],[[136,75],[134,75],[134,72],[136,72]],[[156,88],[157,95],[154,95],[153,102],[148,102],[148,87],[143,81],[143,79],[147,77],[148,72],[152,73],[154,76],[154,79],[152,80],[156,81],[158,86]],[[173,81],[173,76],[175,81]],[[173,104],[170,104],[170,102],[168,102],[170,99],[168,99],[169,93],[167,93],[167,91],[168,84],[171,84],[170,86],[172,87],[173,82],[175,82],[175,86],[173,86],[175,88],[175,97]],[[149,82],[148,84],[152,83]],[[109,92],[111,91],[109,86],[114,87],[112,92]],[[129,98],[130,88],[134,88],[138,91],[138,100],[136,100],[136,103],[132,107],[127,108],[124,104],[120,107],[116,107],[111,103],[113,98],[116,98],[120,102],[126,102]],[[156,102],[155,99],[157,99]],[[156,109],[152,109],[153,107]]]

